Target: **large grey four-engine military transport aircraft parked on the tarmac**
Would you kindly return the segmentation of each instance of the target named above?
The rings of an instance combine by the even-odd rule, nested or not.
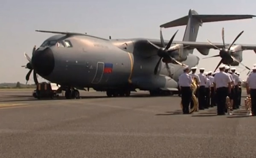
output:
[[[92,87],[106,91],[107,96],[130,96],[139,88],[150,94],[162,95],[177,90],[177,79],[183,73],[183,66],[198,65],[196,48],[208,55],[209,49],[216,49],[207,42],[195,42],[202,23],[252,18],[253,15],[199,15],[190,9],[189,15],[161,25],[168,28],[186,25],[183,41],[150,39],[103,39],[88,34],[40,31],[57,34],[49,37],[39,48],[33,48],[32,59],[25,53],[26,68],[34,70],[44,79],[61,85],[67,99],[79,97],[79,91]],[[217,44],[215,44],[217,45]],[[256,45],[240,45],[239,48],[256,49]],[[233,50],[233,46],[232,46]],[[239,58],[241,60],[241,58]],[[237,60],[239,60],[237,59]]]

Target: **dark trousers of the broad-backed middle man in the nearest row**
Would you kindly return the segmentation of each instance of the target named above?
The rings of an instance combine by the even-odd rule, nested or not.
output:
[[[226,97],[228,94],[227,87],[219,87],[216,90],[217,114],[224,115],[226,109]]]

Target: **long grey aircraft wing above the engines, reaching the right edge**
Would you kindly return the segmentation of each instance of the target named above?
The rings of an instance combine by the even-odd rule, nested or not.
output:
[[[160,40],[150,40],[148,41],[154,43],[155,45],[161,46]],[[167,45],[169,41],[164,41]],[[183,44],[184,46],[189,46],[187,49],[217,49],[208,42],[190,42],[190,41],[173,41],[173,44]],[[223,43],[212,43],[216,45],[218,48],[223,48]],[[226,45],[231,45],[231,43],[227,43]],[[234,44],[241,45],[243,50],[253,50],[256,53],[256,45],[247,45],[247,44]]]

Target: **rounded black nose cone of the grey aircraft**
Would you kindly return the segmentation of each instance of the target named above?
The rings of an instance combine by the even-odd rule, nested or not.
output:
[[[40,76],[48,76],[55,66],[54,56],[50,48],[35,51],[31,62],[32,67]]]

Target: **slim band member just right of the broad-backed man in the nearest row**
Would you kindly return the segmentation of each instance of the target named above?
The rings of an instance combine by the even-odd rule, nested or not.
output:
[[[231,75],[234,79],[234,102],[233,102],[233,109],[238,109],[239,108],[239,76],[235,73],[236,68],[230,68],[231,70]]]

